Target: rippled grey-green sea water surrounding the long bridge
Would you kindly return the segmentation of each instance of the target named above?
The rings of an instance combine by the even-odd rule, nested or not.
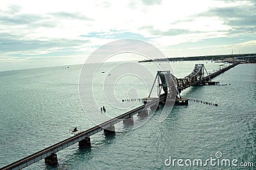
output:
[[[175,76],[182,78],[195,63],[204,63],[209,72],[218,70],[220,64],[184,61],[171,65]],[[88,100],[85,112],[79,100],[81,65],[0,72],[0,167],[72,136],[68,132],[71,127],[86,130],[95,126],[86,112],[99,116],[99,108],[105,105],[108,116],[113,118],[141,105],[113,104],[114,99],[104,93],[113,89],[118,101],[147,97],[157,65],[166,70],[170,67],[166,63],[141,63],[141,68],[148,69],[138,70],[142,78],[130,74],[116,79],[117,72],[111,69],[118,64],[101,65],[93,83],[83,84],[93,89],[94,97]],[[90,70],[90,65],[87,67]],[[103,132],[93,135],[91,149],[74,144],[59,151],[58,166],[49,167],[40,160],[26,169],[182,169],[177,164],[167,167],[164,161],[170,156],[206,160],[216,158],[217,151],[222,158],[253,162],[256,167],[256,65],[237,65],[214,81],[230,85],[190,87],[182,91],[182,97],[216,103],[218,107],[189,102],[188,106],[173,107],[161,123],[161,108],[148,119],[135,116],[134,121],[145,122],[141,127],[129,130],[132,127],[120,122],[115,125],[118,132],[113,137]],[[156,88],[153,94],[156,96]],[[97,105],[92,105],[92,100]]]

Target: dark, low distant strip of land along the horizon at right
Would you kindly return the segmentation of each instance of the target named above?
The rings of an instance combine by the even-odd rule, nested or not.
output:
[[[212,61],[227,61],[232,62],[236,59],[243,58],[243,57],[250,57],[252,56],[253,61],[255,62],[255,53],[251,54],[228,54],[228,55],[214,55],[214,56],[194,56],[194,57],[179,57],[179,58],[167,58],[168,61],[197,61],[197,60],[212,60]],[[148,59],[139,61],[140,62],[152,62],[152,61],[166,61],[166,58],[157,58],[157,59]],[[254,63],[252,62],[252,63]]]

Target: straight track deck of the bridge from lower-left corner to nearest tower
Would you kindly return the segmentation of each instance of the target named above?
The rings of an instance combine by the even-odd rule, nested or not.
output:
[[[52,154],[52,152],[56,153],[60,150],[63,150],[68,146],[71,146],[72,144],[75,144],[75,143],[78,143],[79,141],[84,140],[86,137],[90,137],[91,135],[104,130],[104,128],[111,127],[112,125],[115,125],[120,121],[123,121],[127,118],[131,118],[131,116],[133,116],[134,114],[140,113],[141,111],[148,109],[149,107],[152,107],[153,105],[156,105],[159,102],[163,102],[165,100],[166,100],[165,96],[160,97],[159,100],[158,98],[156,98],[152,102],[148,102],[147,104],[141,105],[136,109],[132,109],[131,111],[125,112],[120,116],[116,116],[115,118],[109,121],[106,121],[104,123],[101,123],[100,125],[97,125],[84,132],[81,132],[81,134],[77,134],[77,135],[74,135],[73,137],[69,137],[68,139],[61,141],[60,143],[56,143],[52,146],[49,146],[48,148],[45,148],[44,150],[33,153],[28,157],[22,158],[16,162],[13,162],[12,164],[9,164],[8,166],[2,167],[1,170],[2,169],[22,169],[24,167],[27,167],[35,162],[38,162],[39,160],[42,160],[43,158],[49,157]]]

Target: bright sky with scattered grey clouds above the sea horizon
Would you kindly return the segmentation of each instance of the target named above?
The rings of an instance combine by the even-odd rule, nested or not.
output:
[[[0,0],[0,70],[84,63],[101,45],[124,38],[150,43],[166,57],[253,53],[255,6],[255,0]]]

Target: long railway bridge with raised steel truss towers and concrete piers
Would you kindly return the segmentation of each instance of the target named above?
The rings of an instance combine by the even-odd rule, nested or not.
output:
[[[157,95],[158,98],[150,97],[152,93],[152,89],[154,88],[154,84],[150,91],[150,94],[147,98],[144,98],[144,104],[140,107],[132,109],[131,111],[125,112],[120,116],[116,116],[115,118],[108,120],[100,125],[92,127],[88,130],[85,130],[77,135],[69,137],[60,143],[53,144],[44,150],[40,150],[28,157],[22,158],[9,164],[7,166],[2,167],[1,169],[22,169],[24,167],[28,167],[39,160],[45,159],[45,163],[56,165],[58,164],[57,152],[71,146],[73,144],[79,143],[79,146],[91,147],[90,136],[96,134],[98,132],[104,131],[104,134],[115,134],[115,124],[124,121],[124,123],[132,122],[132,116],[138,114],[138,116],[147,116],[148,109],[156,110],[157,106],[161,102],[166,102],[170,100],[173,96],[175,96],[175,104],[178,105],[188,105],[188,99],[181,98],[180,93],[182,90],[188,88],[189,86],[203,86],[205,84],[216,84],[218,82],[211,81],[212,78],[220,75],[230,68],[238,65],[239,62],[235,62],[230,66],[222,68],[214,73],[208,74],[203,64],[196,64],[193,71],[183,79],[177,79],[170,71],[158,71],[156,78],[154,80],[154,84],[157,82]],[[207,73],[204,76],[204,71]]]

